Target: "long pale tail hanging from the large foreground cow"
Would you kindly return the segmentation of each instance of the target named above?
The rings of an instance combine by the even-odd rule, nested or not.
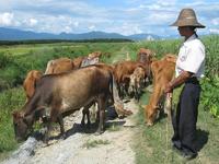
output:
[[[132,113],[130,110],[126,110],[124,109],[124,103],[120,99],[119,95],[118,95],[118,90],[117,90],[117,84],[115,82],[115,78],[112,74],[112,91],[113,91],[113,102],[114,102],[114,106],[115,106],[115,110],[118,115],[118,117],[124,117],[124,116],[129,116]]]

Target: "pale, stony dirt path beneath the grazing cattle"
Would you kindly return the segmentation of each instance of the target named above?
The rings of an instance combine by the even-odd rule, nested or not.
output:
[[[81,110],[74,117],[65,118],[66,140],[55,138],[48,147],[42,142],[28,139],[9,159],[5,164],[134,164],[135,152],[131,150],[135,133],[134,117],[138,106],[131,99],[125,103],[125,108],[134,112],[132,116],[124,119],[107,120],[107,129],[101,136],[93,130],[80,127]],[[72,127],[73,125],[73,127]],[[57,134],[53,134],[57,136]],[[22,148],[23,147],[23,148]]]

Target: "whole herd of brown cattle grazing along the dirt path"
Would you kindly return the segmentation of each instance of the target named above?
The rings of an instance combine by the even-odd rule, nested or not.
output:
[[[168,54],[158,60],[152,50],[140,48],[136,61],[106,65],[100,62],[101,56],[101,51],[95,51],[87,57],[59,58],[47,62],[45,73],[30,71],[23,82],[26,102],[12,114],[16,140],[25,140],[35,121],[42,121],[47,128],[45,142],[48,142],[51,122],[60,125],[65,138],[62,118],[83,108],[81,125],[85,124],[85,117],[90,125],[89,108],[95,103],[96,132],[102,133],[110,102],[118,116],[129,116],[132,113],[124,109],[122,99],[129,95],[139,101],[142,89],[151,82],[153,92],[143,109],[147,125],[153,125],[162,108],[164,87],[174,75],[176,57]]]

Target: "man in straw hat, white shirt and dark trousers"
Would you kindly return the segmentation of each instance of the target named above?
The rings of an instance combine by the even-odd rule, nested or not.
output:
[[[197,156],[194,141],[200,95],[199,79],[204,77],[205,69],[205,46],[198,39],[195,30],[205,26],[198,23],[193,9],[183,9],[172,26],[177,26],[178,33],[185,40],[180,48],[175,79],[166,85],[164,92],[169,94],[173,89],[184,84],[176,115],[172,120],[174,130],[172,142],[173,148],[191,160]]]

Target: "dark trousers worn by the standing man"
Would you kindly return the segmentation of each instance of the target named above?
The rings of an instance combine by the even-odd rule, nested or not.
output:
[[[196,153],[195,137],[198,116],[200,85],[197,80],[187,81],[180,95],[175,116],[172,118],[174,134],[173,144]]]

